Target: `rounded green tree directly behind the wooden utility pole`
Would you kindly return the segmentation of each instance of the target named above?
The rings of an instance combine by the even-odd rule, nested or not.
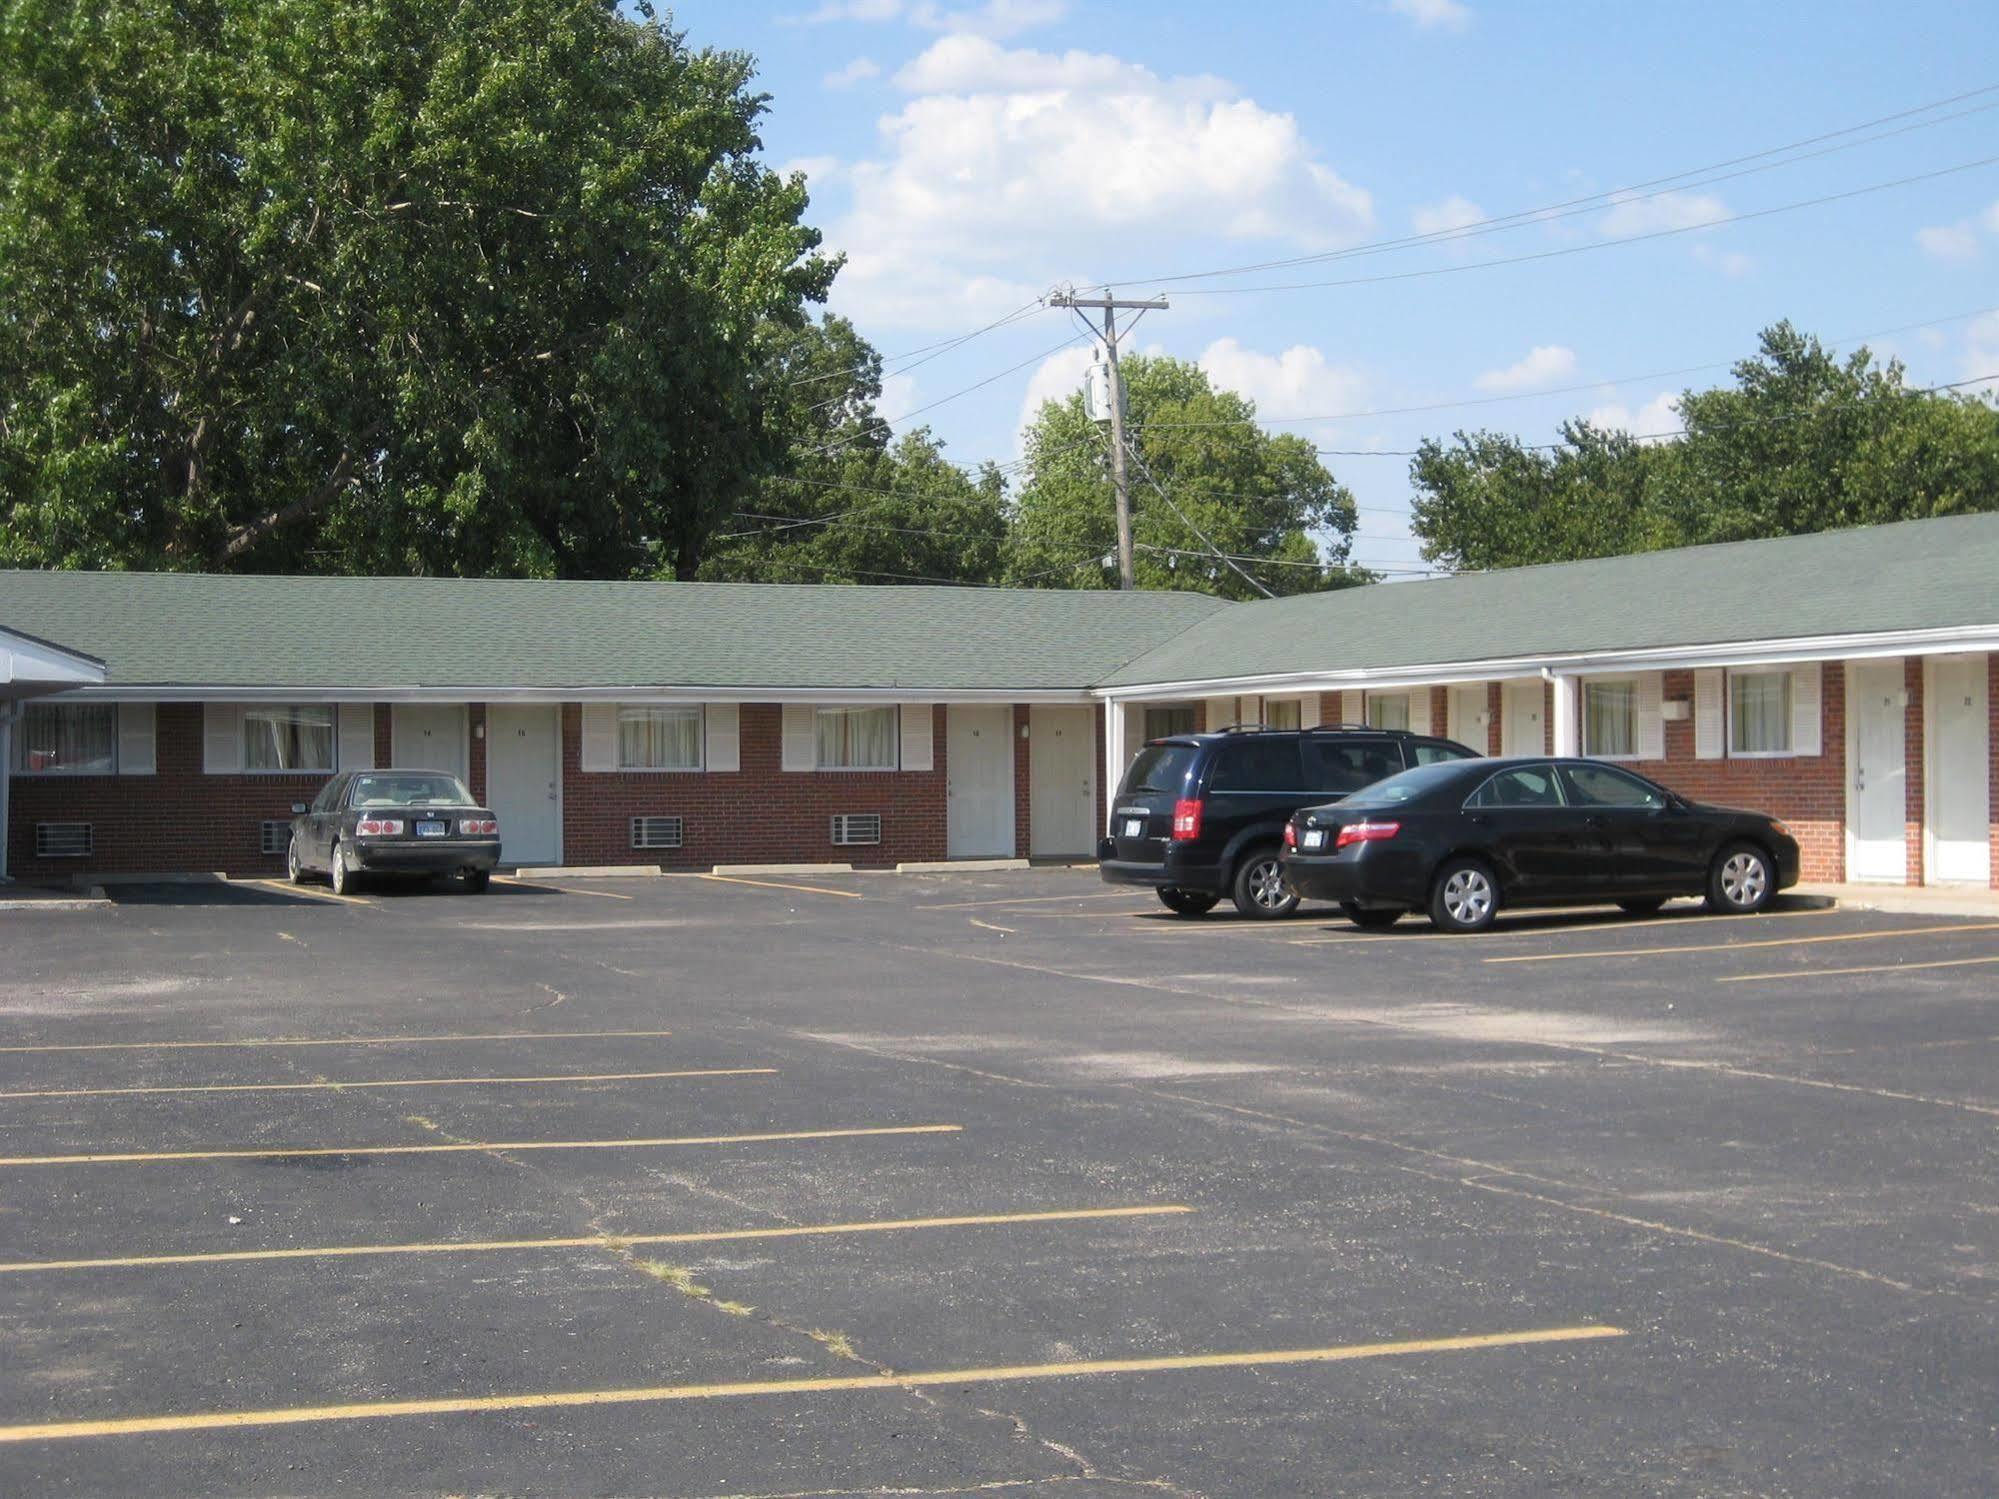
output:
[[[1127,396],[1133,572],[1139,588],[1191,588],[1261,598],[1201,540],[1271,594],[1309,594],[1365,582],[1351,568],[1353,496],[1311,444],[1255,424],[1255,404],[1215,390],[1185,360],[1131,356]],[[1115,584],[1109,430],[1075,394],[1045,402],[1027,430],[1025,480],[1007,536],[1007,582],[1039,588]]]

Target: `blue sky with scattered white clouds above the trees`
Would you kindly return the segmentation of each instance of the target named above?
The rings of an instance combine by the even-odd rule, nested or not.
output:
[[[758,58],[770,158],[808,172],[850,256],[832,306],[892,356],[1057,282],[1163,290],[1135,346],[1337,450],[1473,426],[1545,442],[1591,412],[1671,430],[1671,396],[1779,318],[1841,342],[1935,322],[1869,342],[1917,384],[1999,374],[1999,312],[1959,316],[1999,308],[1999,162],[1711,224],[1999,156],[1999,92],[1471,240],[1161,280],[1449,232],[1991,88],[1989,0],[692,0],[674,22]],[[1641,238],[1683,226],[1701,228]],[[1443,274],[1217,292],[1403,272]],[[894,376],[884,414],[944,402],[912,420],[952,458],[1009,460],[1023,410],[1081,378],[1083,344],[1051,352],[1071,332],[1023,316]],[[1443,410],[1369,416],[1409,406]],[[1415,566],[1407,460],[1325,462],[1363,506],[1357,558]]]

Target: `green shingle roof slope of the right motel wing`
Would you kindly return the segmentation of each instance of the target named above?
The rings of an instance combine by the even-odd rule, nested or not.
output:
[[[1999,626],[1999,514],[1217,610],[1099,686]]]

